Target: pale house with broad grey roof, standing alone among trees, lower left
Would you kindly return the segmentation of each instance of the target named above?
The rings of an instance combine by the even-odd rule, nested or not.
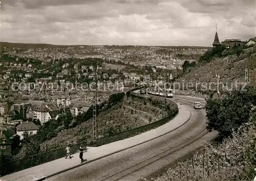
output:
[[[24,139],[25,132],[28,132],[29,135],[33,135],[37,133],[38,129],[39,128],[33,122],[23,122],[16,127],[20,140]]]

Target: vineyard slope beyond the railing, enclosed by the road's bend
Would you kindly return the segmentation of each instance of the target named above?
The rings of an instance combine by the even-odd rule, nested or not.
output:
[[[156,100],[155,100],[156,101]],[[162,104],[160,104],[161,107]],[[123,101],[98,116],[99,138],[106,135],[140,127],[162,119],[161,108],[154,106],[150,101],[144,102],[139,98],[124,97]],[[167,113],[173,112],[175,106],[168,106]],[[78,127],[81,127],[79,132]],[[51,140],[40,145],[41,151],[66,146],[67,143],[77,143],[79,140],[91,138],[93,130],[92,119],[83,122],[77,127],[62,130]]]

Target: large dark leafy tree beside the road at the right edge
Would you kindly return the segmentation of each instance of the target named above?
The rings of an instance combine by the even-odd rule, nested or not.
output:
[[[206,102],[207,129],[217,130],[222,138],[228,137],[250,119],[252,105],[256,103],[256,89],[234,89],[223,99],[208,99]]]

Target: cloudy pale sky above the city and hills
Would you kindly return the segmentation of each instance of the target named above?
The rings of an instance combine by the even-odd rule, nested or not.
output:
[[[0,41],[212,47],[256,36],[255,0],[2,0]]]

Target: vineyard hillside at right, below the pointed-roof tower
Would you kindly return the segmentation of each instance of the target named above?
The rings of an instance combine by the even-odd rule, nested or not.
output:
[[[249,72],[249,81],[256,85],[256,46],[244,50],[240,55],[230,55],[190,69],[177,82],[217,82],[216,74],[220,75],[220,82],[245,82],[245,68]],[[194,83],[195,84],[195,83]]]

